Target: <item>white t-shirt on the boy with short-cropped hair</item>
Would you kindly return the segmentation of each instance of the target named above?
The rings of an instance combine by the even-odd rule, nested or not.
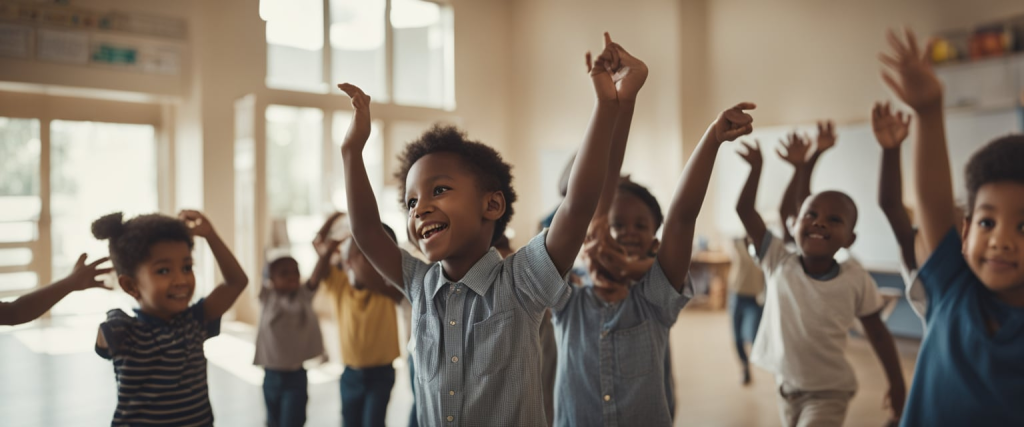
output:
[[[878,285],[849,261],[840,264],[835,277],[815,280],[780,239],[766,240],[761,268],[767,297],[751,360],[793,389],[856,391],[847,336],[858,317],[882,309]]]

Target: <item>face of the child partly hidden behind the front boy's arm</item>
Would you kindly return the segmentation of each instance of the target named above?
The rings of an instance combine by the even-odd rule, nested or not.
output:
[[[608,212],[611,238],[626,250],[626,254],[646,256],[657,244],[654,239],[654,214],[640,198],[620,191],[611,202]]]

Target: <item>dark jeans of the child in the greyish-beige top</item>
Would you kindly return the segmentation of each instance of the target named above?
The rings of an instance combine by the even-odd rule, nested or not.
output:
[[[264,370],[263,400],[266,425],[299,427],[306,423],[306,370]]]

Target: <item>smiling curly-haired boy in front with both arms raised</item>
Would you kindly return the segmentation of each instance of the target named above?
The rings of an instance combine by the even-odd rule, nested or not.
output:
[[[409,230],[430,260],[400,250],[380,227],[362,164],[370,98],[357,87],[355,117],[342,143],[349,215],[367,259],[413,305],[416,400],[420,425],[543,425],[539,323],[571,292],[564,281],[608,171],[618,110],[608,47],[591,70],[597,105],[568,193],[551,227],[502,260],[492,245],[512,216],[510,167],[482,143],[436,126],[406,147],[398,174]],[[588,54],[588,58],[590,55]],[[589,60],[588,60],[589,62]]]

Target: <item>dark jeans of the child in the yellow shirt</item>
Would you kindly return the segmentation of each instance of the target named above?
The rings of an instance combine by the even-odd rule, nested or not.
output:
[[[365,370],[345,367],[341,374],[341,418],[345,427],[383,426],[393,386],[394,368],[390,365]]]

